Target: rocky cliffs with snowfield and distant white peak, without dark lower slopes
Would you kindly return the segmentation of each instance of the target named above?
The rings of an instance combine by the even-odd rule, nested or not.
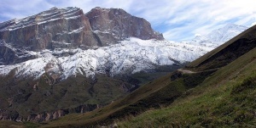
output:
[[[16,76],[38,78],[47,73],[61,80],[78,73],[113,76],[183,64],[247,29],[230,24],[191,42],[169,42],[145,19],[116,8],[93,8],[86,14],[79,8],[50,8],[0,26],[0,74],[16,69]]]

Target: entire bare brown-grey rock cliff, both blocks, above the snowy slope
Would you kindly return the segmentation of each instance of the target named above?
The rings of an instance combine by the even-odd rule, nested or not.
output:
[[[50,8],[0,24],[0,56],[3,58],[0,64],[16,64],[34,58],[26,51],[102,47],[130,36],[164,39],[152,30],[148,21],[122,9],[93,8],[84,14],[80,8]]]

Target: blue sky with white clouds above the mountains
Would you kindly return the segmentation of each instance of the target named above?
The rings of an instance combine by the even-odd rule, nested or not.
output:
[[[186,41],[226,24],[256,24],[255,0],[1,0],[0,22],[38,14],[46,9],[123,8],[147,19],[167,40]]]

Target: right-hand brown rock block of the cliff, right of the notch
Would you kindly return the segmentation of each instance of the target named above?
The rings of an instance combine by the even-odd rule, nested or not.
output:
[[[147,20],[132,16],[120,8],[97,7],[85,15],[103,45],[113,44],[130,36],[143,40],[164,39],[162,34],[151,28]]]

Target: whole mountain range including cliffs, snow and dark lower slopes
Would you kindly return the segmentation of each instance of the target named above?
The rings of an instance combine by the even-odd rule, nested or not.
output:
[[[100,108],[245,30],[230,24],[191,42],[166,41],[147,20],[98,7],[0,23],[0,120],[41,122]]]

